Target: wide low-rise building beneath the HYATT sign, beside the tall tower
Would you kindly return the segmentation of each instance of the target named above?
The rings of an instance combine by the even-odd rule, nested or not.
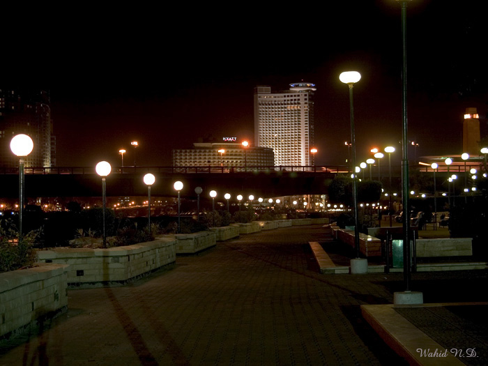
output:
[[[201,142],[172,151],[174,167],[273,167],[273,149],[238,143]]]

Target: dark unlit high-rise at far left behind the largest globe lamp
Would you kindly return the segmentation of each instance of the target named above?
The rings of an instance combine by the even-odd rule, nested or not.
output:
[[[19,159],[10,151],[10,140],[21,133],[29,135],[34,143],[25,166],[54,166],[56,139],[52,135],[51,108],[46,91],[0,90],[0,167],[18,167]]]

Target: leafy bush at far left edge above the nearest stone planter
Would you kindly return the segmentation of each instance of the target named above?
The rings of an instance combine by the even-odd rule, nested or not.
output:
[[[4,228],[3,222],[0,226],[0,272],[33,266],[37,259],[33,243],[39,231],[30,231],[18,243],[18,231],[13,225],[6,226],[7,229]]]

